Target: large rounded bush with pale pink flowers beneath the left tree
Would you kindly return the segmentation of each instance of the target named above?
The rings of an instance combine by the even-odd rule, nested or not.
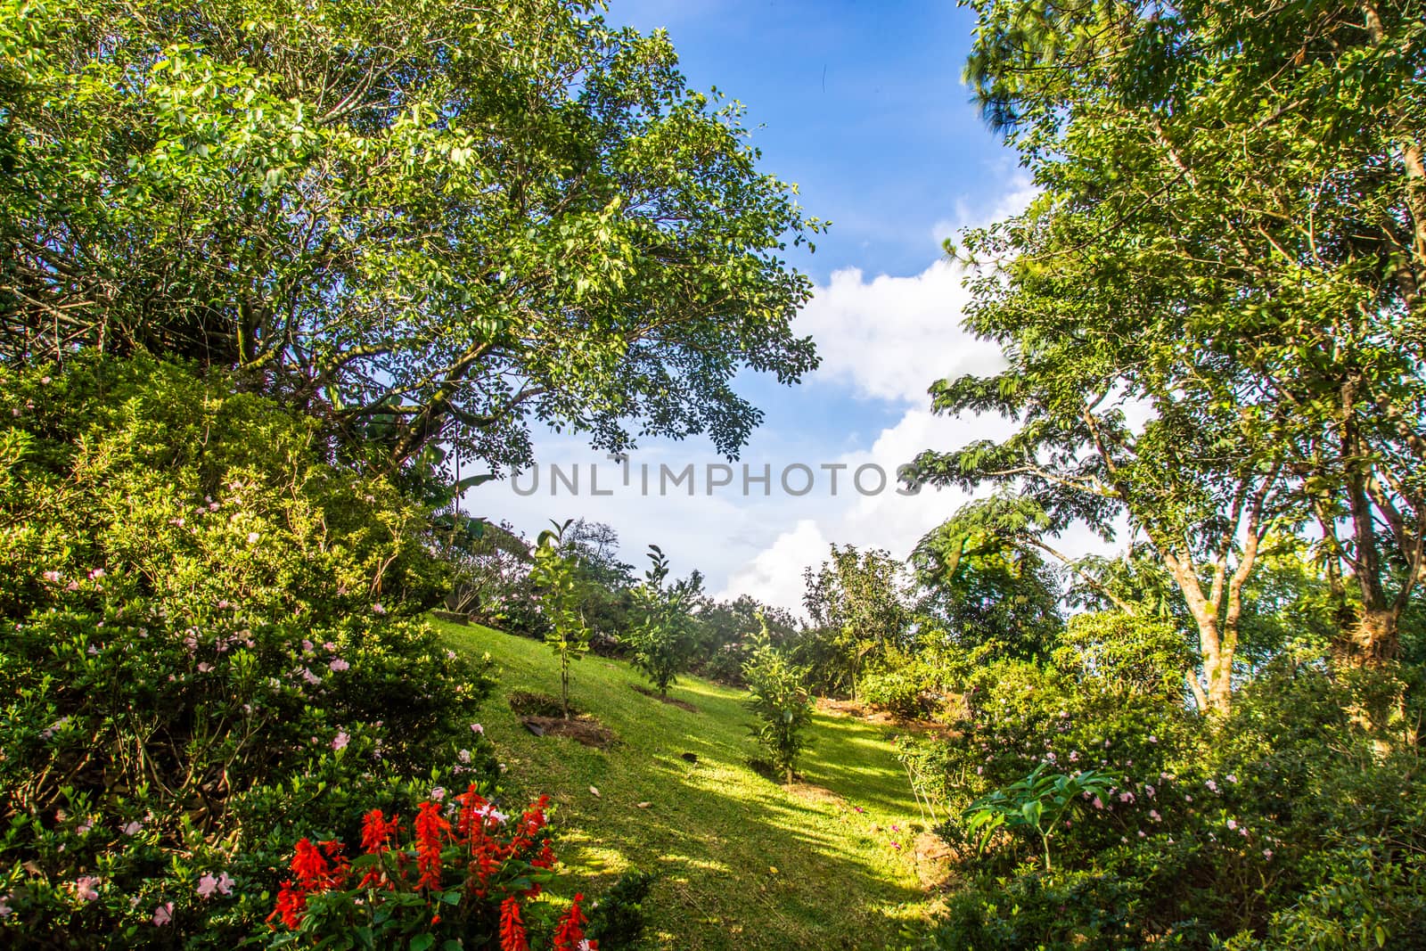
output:
[[[231,944],[294,823],[493,773],[388,480],[224,375],[0,376],[0,941]]]

